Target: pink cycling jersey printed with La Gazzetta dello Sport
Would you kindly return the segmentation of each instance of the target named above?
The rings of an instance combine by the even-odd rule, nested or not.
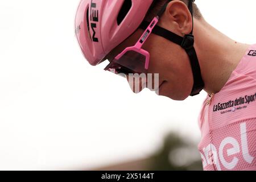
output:
[[[256,44],[221,91],[207,96],[199,127],[204,170],[256,170]]]

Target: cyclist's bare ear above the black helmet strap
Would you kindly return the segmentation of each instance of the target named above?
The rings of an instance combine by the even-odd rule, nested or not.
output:
[[[164,12],[164,27],[171,28],[177,35],[189,34],[192,31],[192,15],[187,5],[181,1],[171,1]]]

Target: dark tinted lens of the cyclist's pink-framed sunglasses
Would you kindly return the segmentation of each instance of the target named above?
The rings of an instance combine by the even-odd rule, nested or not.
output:
[[[146,56],[135,51],[127,51],[118,60],[114,59],[105,70],[118,75],[129,75],[129,73],[147,73],[145,69]]]

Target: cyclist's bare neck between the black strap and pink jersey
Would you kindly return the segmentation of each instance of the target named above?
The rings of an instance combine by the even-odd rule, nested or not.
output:
[[[195,49],[205,92],[218,93],[245,55],[248,44],[238,43],[210,26],[204,19],[195,19]]]

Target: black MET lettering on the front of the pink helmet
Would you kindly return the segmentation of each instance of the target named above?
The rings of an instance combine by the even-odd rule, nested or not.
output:
[[[98,10],[97,4],[93,2],[93,0],[90,3],[90,27],[92,28],[93,31],[93,36],[92,36],[92,41],[93,42],[98,42],[98,38],[96,38],[96,31],[94,28],[97,28],[97,23],[98,23]]]

